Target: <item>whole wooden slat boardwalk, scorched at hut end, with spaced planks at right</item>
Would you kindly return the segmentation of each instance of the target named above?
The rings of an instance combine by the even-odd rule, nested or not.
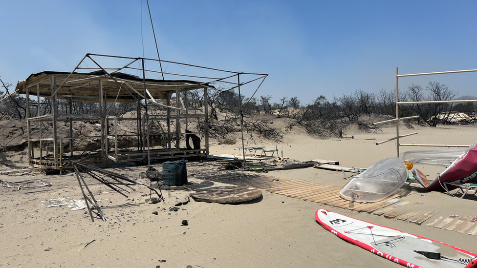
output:
[[[401,221],[409,221],[410,223],[417,225],[421,225],[439,213],[438,211],[427,211],[423,214],[421,214],[421,211],[400,211],[400,209],[398,209],[400,207],[406,207],[409,209],[415,205],[422,205],[422,203],[402,201],[400,194],[394,194],[380,202],[367,204],[357,203],[341,198],[339,194],[341,188],[340,186],[326,185],[304,180],[280,178],[260,173],[235,171],[203,174],[194,176],[194,178],[237,186],[254,187],[271,193],[281,194],[283,196],[359,212],[373,213],[377,216],[383,216]],[[394,209],[398,209],[398,211],[393,211]],[[467,232],[469,235],[477,235],[477,227],[474,226],[477,223],[477,216],[472,219],[471,215],[465,215],[459,219],[457,219],[457,217],[457,215],[450,215],[440,223],[438,222],[443,217],[438,217],[434,220],[434,222],[427,224],[427,226],[434,226],[436,228],[444,228],[447,226],[445,227],[446,230],[455,230],[456,232],[460,233]],[[471,227],[474,228],[471,229]]]

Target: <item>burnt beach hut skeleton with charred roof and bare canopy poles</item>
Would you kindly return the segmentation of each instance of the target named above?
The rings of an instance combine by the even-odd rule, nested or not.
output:
[[[120,67],[104,67],[118,61],[128,62],[125,65],[117,64]],[[146,68],[146,65],[154,65],[154,62],[176,64],[187,69],[195,68],[202,74],[203,70],[208,70],[217,75],[179,74],[167,72],[167,68],[164,72]],[[134,64],[138,66],[135,67]],[[132,75],[131,72],[140,75]],[[147,78],[157,75],[169,75],[180,79],[200,78],[207,82]],[[255,77],[240,82],[240,78],[247,75]],[[72,161],[92,163],[134,161],[150,165],[150,161],[154,159],[207,156],[208,90],[216,89],[213,84],[220,83],[222,91],[238,88],[240,92],[240,86],[260,80],[261,85],[267,76],[179,62],[99,54],[87,54],[72,72],[44,71],[32,74],[25,81],[19,82],[15,90],[19,94],[26,95],[29,164],[63,169],[71,167]],[[237,79],[238,82],[231,82],[233,79]],[[202,100],[187,100],[187,92],[190,90],[201,90]],[[32,102],[30,98],[36,99],[36,102]],[[174,98],[175,103],[172,102]],[[99,108],[94,113],[74,113],[73,101],[97,103]],[[188,109],[189,102],[202,102],[203,109],[200,113],[192,114]],[[135,103],[135,117],[118,117],[111,114],[110,110],[116,103]],[[48,112],[41,114],[41,107],[45,105]],[[31,107],[36,109],[34,115],[30,115]],[[188,133],[201,138],[201,148],[187,149],[185,146],[185,130],[188,129],[191,120],[200,121],[204,125],[202,132]],[[101,134],[91,136],[90,133],[86,135],[76,133],[77,131],[73,131],[73,125],[80,121],[98,122]],[[118,124],[124,121],[136,122],[135,129],[130,129],[133,134],[118,133]],[[161,126],[160,132],[153,132],[150,129],[153,122],[162,122],[165,127]],[[66,129],[60,124],[64,124]],[[45,126],[48,127],[48,131]],[[151,142],[153,137],[160,137],[164,143],[153,144]],[[121,147],[120,140],[126,138],[132,138],[134,146]],[[91,150],[79,150],[75,147],[75,142],[85,139],[99,145]]]

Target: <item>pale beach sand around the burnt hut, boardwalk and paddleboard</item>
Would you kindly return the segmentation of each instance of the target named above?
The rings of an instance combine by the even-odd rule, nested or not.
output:
[[[402,139],[405,143],[472,144],[474,126],[416,126],[401,128],[401,134],[419,134]],[[343,166],[368,167],[396,155],[395,143],[375,143],[395,135],[395,128],[378,133],[348,133],[354,139],[326,139],[294,133],[278,143],[283,156],[299,161],[326,159]],[[274,147],[275,143],[257,139],[258,144]],[[213,144],[211,154],[238,153],[238,144]],[[402,147],[402,151],[431,149]],[[191,164],[191,166],[193,166]],[[160,167],[160,166],[159,166]],[[116,172],[137,178],[145,166],[123,166]],[[442,170],[441,170],[442,171]],[[434,170],[428,170],[434,172]],[[438,171],[435,171],[438,172]],[[270,175],[343,186],[343,173],[316,168],[270,171]],[[435,177],[436,174],[430,174]],[[400,190],[403,200],[419,202],[415,210],[439,211],[431,220],[418,226],[396,219],[386,219],[365,212],[303,201],[263,191],[256,202],[220,205],[191,201],[169,211],[175,197],[185,197],[183,190],[167,192],[165,204],[148,204],[150,190],[135,186],[137,191],[125,198],[104,185],[93,185],[95,198],[108,217],[107,222],[89,219],[86,210],[67,206],[46,207],[42,201],[58,197],[80,199],[81,191],[72,174],[61,177],[42,174],[0,175],[1,180],[21,181],[45,178],[52,189],[0,187],[0,267],[144,267],[195,268],[212,267],[400,267],[390,261],[351,245],[319,226],[314,212],[319,208],[397,228],[428,237],[472,252],[477,251],[477,237],[426,226],[438,216],[477,216],[476,200],[459,199],[419,189]],[[190,181],[200,180],[190,177]],[[141,180],[149,183],[148,180]],[[94,183],[94,181],[89,181]],[[65,188],[62,188],[65,187]],[[58,189],[61,188],[61,189]],[[147,195],[147,196],[143,196]],[[158,215],[152,214],[157,211]],[[183,226],[182,220],[189,225]],[[93,241],[92,243],[87,243]],[[86,247],[85,247],[86,246]]]

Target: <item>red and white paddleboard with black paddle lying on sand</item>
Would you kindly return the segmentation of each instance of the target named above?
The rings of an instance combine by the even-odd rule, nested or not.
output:
[[[477,268],[477,254],[405,233],[318,209],[316,221],[339,238],[402,266],[412,268]]]

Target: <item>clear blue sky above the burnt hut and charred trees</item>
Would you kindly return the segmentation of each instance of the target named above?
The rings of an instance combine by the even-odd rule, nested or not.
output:
[[[258,95],[302,104],[401,74],[477,69],[477,1],[150,0],[161,59],[270,76]],[[141,19],[142,16],[142,19]],[[0,76],[71,71],[86,53],[156,58],[146,0],[0,0]],[[477,95],[477,73],[400,79]],[[244,94],[249,97],[252,91]]]

